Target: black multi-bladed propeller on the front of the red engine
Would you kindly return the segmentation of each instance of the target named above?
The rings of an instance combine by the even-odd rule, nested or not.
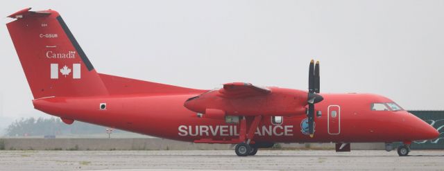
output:
[[[320,90],[320,77],[319,77],[319,61],[314,64],[314,60],[311,60],[308,73],[308,132],[312,138],[314,135],[314,104],[321,102],[324,98],[319,95]]]

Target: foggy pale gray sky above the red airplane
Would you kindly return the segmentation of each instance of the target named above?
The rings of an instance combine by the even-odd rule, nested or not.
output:
[[[322,92],[444,109],[444,1],[7,1],[0,6],[7,118],[48,116],[33,109],[4,25],[26,7],[60,12],[99,73],[198,89],[240,81],[305,90],[315,58]]]

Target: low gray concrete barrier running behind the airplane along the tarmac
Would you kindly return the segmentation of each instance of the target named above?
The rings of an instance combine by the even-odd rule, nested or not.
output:
[[[2,146],[2,147],[1,147]],[[232,150],[234,145],[162,138],[3,138],[0,150]],[[334,143],[280,143],[280,149],[334,150]],[[352,143],[352,150],[384,150],[384,143]]]

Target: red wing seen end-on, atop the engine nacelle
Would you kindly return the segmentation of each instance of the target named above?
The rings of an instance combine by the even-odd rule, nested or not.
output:
[[[245,98],[249,96],[263,96],[271,93],[271,89],[266,87],[257,87],[251,83],[232,82],[223,84],[219,93],[224,98]]]

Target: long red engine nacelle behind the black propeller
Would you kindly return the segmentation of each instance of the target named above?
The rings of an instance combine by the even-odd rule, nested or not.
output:
[[[189,98],[184,107],[203,117],[230,116],[295,116],[304,115],[307,92],[269,88],[273,93],[252,96],[228,96],[220,91],[208,91]],[[240,92],[242,94],[242,92]],[[207,115],[207,116],[204,116]]]

